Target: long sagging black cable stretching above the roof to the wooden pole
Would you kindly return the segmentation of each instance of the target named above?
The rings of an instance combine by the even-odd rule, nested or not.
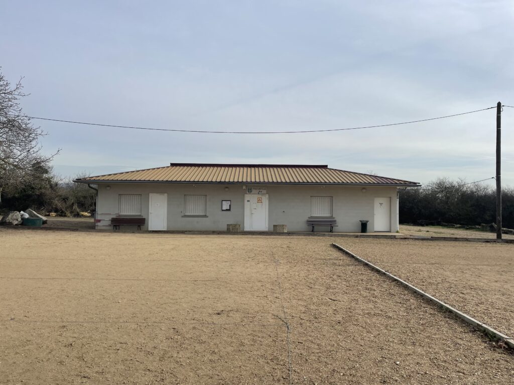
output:
[[[194,132],[194,133],[237,133],[237,134],[271,134],[271,133],[307,133],[307,132],[330,132],[330,131],[348,131],[348,130],[358,130],[362,128],[378,128],[378,127],[390,127],[390,126],[399,126],[402,124],[412,124],[412,123],[420,123],[420,122],[428,122],[431,120],[437,119],[446,119],[458,117],[460,115],[466,115],[469,113],[481,112],[485,110],[490,110],[491,108],[496,107],[487,107],[479,110],[454,113],[451,115],[445,115],[443,117],[437,118],[428,118],[428,119],[420,119],[420,120],[412,120],[409,122],[400,122],[400,123],[389,123],[389,124],[378,124],[374,126],[360,126],[360,127],[351,127],[351,128],[331,128],[331,129],[321,129],[321,130],[299,130],[299,131],[207,131],[207,130],[186,130],[186,129],[176,129],[176,128],[149,128],[149,127],[138,127],[138,126],[121,126],[115,124],[101,124],[101,123],[89,123],[89,122],[78,122],[72,120],[62,120],[62,119],[50,119],[50,118],[40,118],[40,117],[30,117],[28,115],[16,115],[16,114],[8,114],[15,117],[25,117],[29,119],[38,119],[38,120],[47,120],[51,122],[61,122],[61,123],[72,123],[72,124],[84,124],[88,126],[100,126],[100,127],[115,127],[115,128],[132,128],[138,130],[151,130],[151,131],[172,131],[172,132]]]

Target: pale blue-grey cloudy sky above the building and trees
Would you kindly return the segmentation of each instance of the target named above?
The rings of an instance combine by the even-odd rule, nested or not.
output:
[[[511,1],[2,1],[24,112],[201,130],[346,128],[514,105]],[[235,135],[35,121],[63,176],[170,162],[328,164],[426,183],[493,177],[495,110],[352,131]],[[514,186],[514,108],[503,181]]]

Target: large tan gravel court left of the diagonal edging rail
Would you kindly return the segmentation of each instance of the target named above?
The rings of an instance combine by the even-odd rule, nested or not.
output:
[[[511,382],[511,353],[332,241],[2,228],[0,383]]]

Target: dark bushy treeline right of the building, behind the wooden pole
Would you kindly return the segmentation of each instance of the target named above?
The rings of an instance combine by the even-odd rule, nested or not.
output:
[[[483,183],[438,179],[420,188],[400,190],[400,223],[480,225],[496,222],[496,190]],[[502,189],[502,221],[514,228],[514,189]]]

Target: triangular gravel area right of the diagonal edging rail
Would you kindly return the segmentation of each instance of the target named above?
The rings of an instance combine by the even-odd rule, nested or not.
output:
[[[514,244],[406,239],[335,242],[499,332],[514,336]]]

